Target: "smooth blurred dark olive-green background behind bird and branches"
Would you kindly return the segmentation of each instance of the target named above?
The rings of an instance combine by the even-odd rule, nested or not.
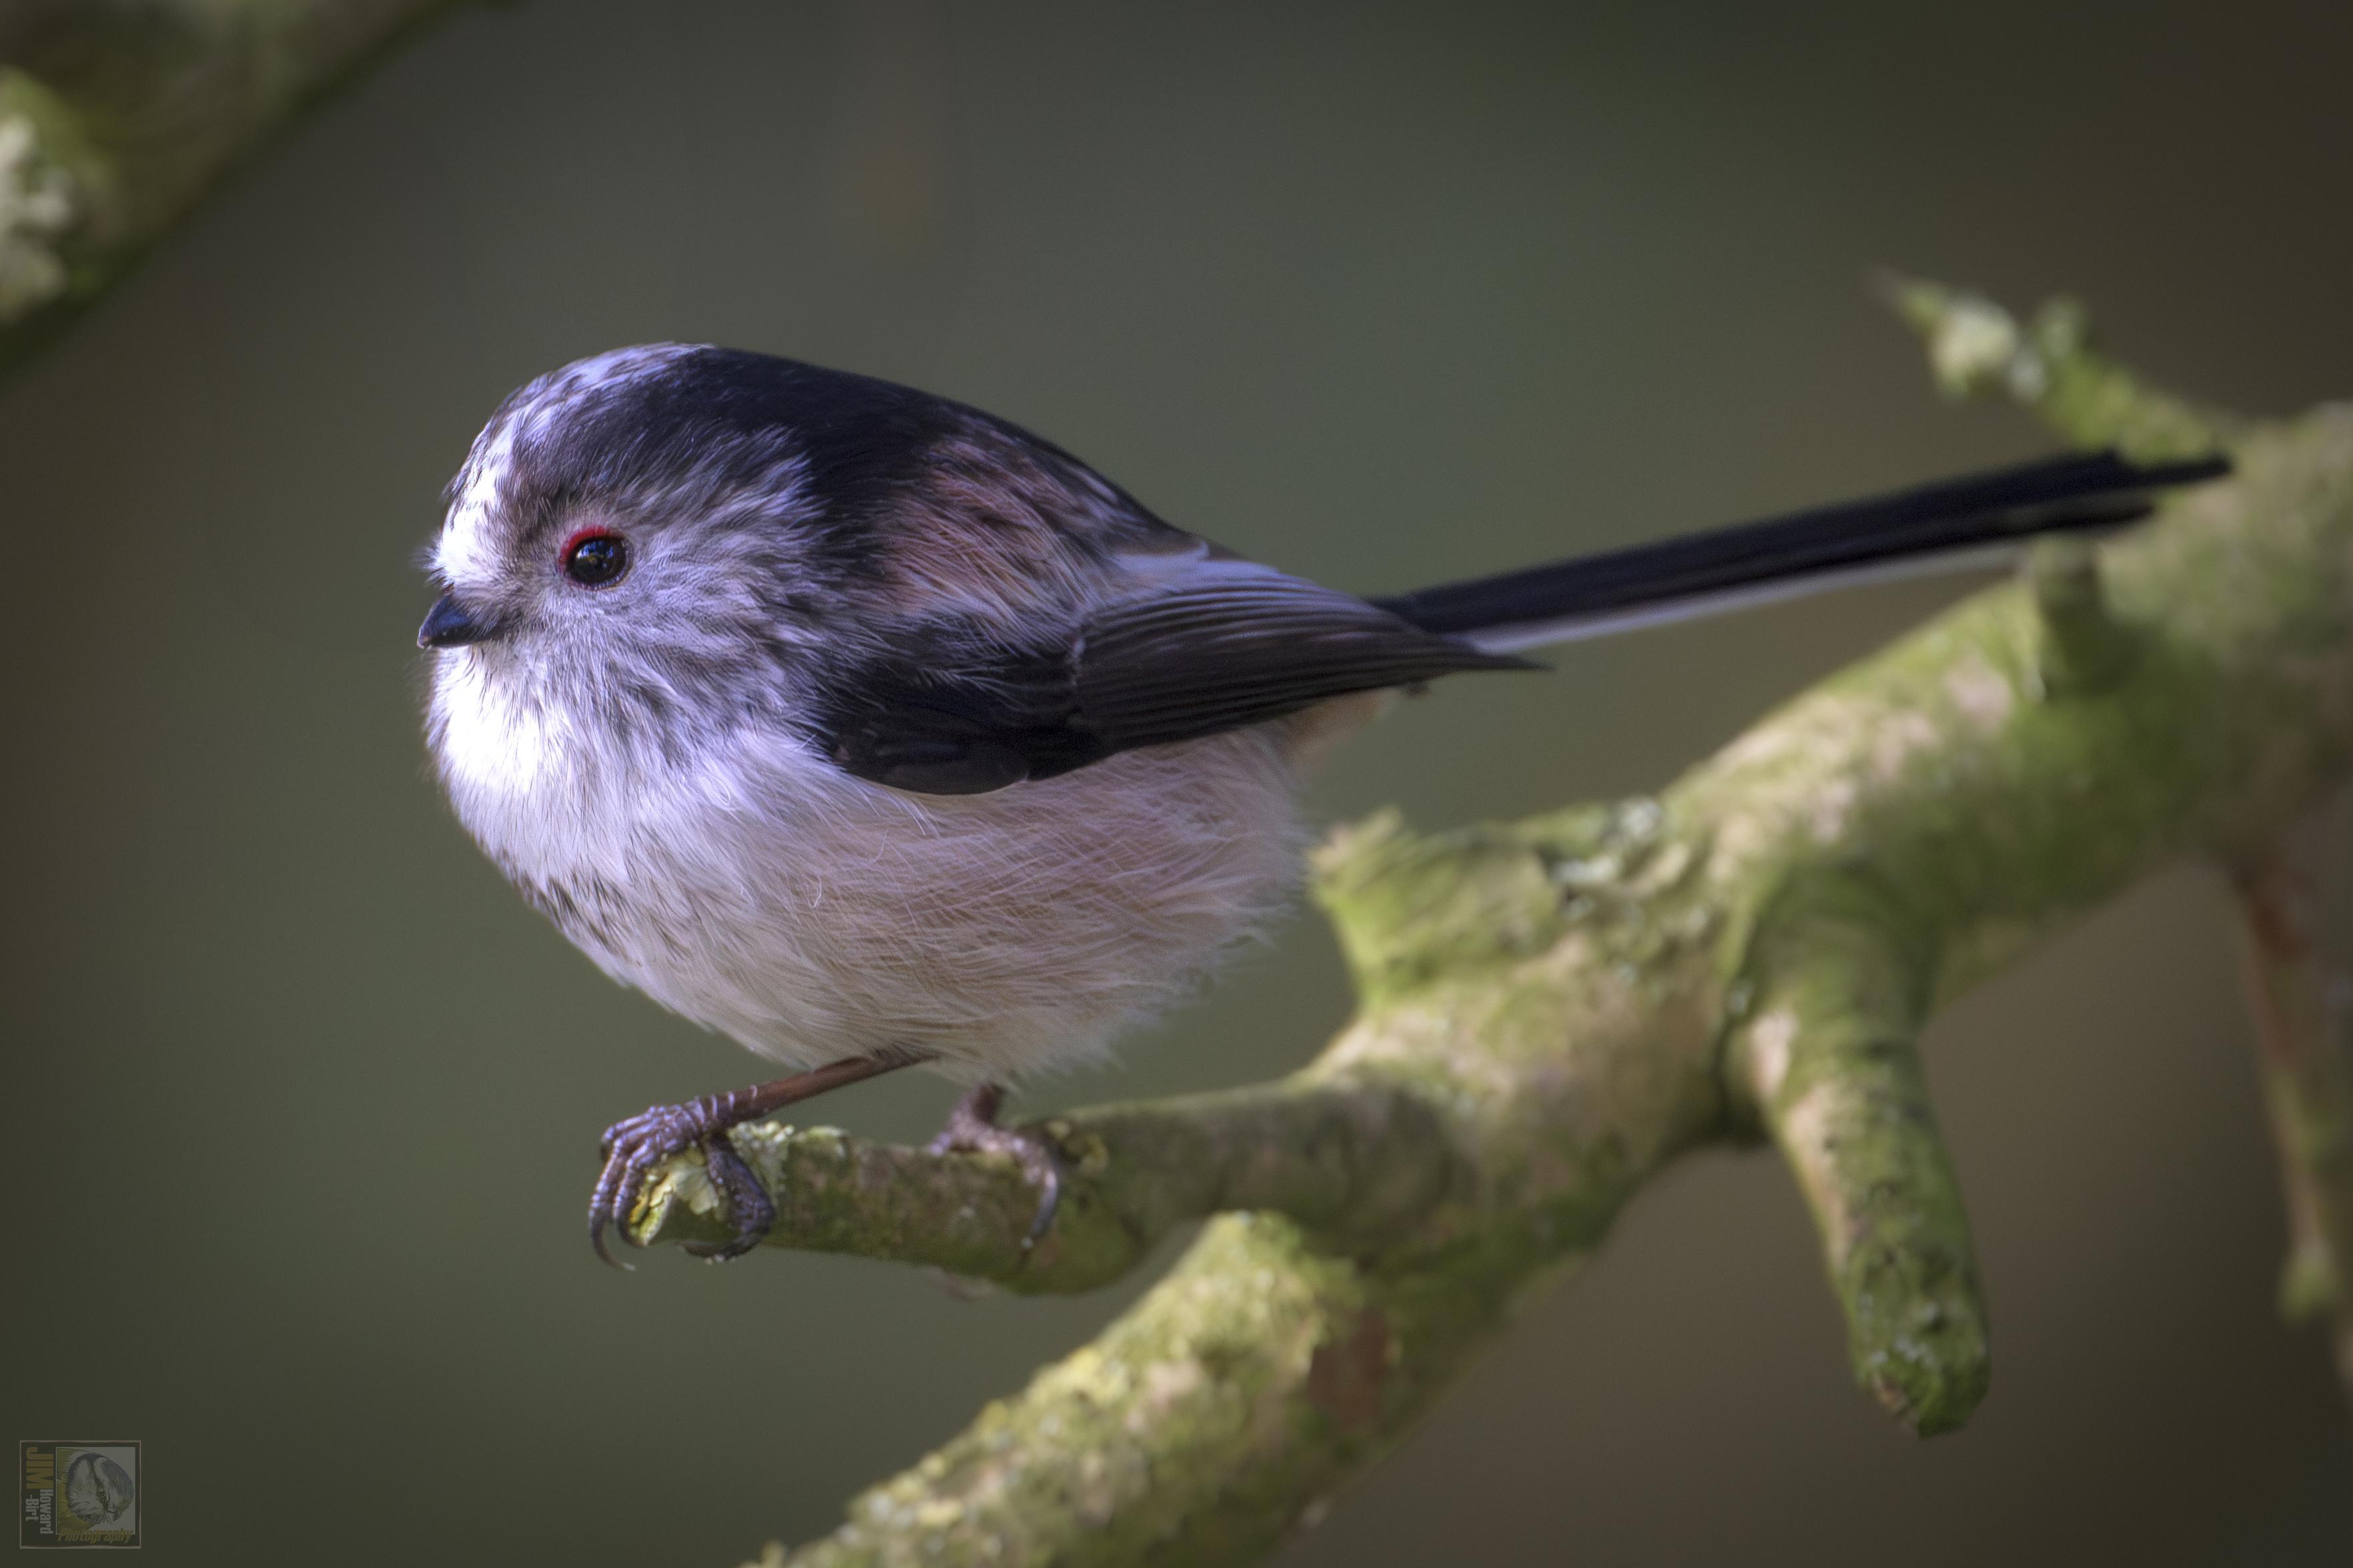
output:
[[[546,367],[915,381],[1360,590],[2047,447],[1937,402],[1871,263],[2082,292],[2228,404],[2353,390],[2353,7],[1565,12],[471,12],[0,395],[5,1436],[144,1439],[153,1563],[734,1563],[1127,1298],[591,1260],[595,1131],[753,1063],[569,952],[424,771],[414,557]],[[1958,590],[1449,686],[1320,809],[1657,788]],[[1995,1314],[1967,1432],[1854,1392],[1788,1178],[1711,1154],[1289,1561],[2353,1561],[2231,940],[2184,870],[1937,1025]],[[1304,917],[1024,1105],[1282,1072],[1346,1006]]]

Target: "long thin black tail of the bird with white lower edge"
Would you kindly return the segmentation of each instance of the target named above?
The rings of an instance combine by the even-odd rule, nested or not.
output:
[[[2113,451],[2045,458],[1379,604],[1506,654],[1845,583],[1998,564],[2038,534],[2115,529],[2153,510],[2151,491],[2226,473],[2221,456],[2151,468]]]

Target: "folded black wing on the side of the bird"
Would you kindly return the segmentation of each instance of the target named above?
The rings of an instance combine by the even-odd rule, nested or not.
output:
[[[1052,778],[1139,745],[1264,724],[1351,691],[1525,670],[1346,592],[1245,562],[1092,611],[1031,649],[972,628],[838,670],[819,743],[845,771],[922,795]]]

